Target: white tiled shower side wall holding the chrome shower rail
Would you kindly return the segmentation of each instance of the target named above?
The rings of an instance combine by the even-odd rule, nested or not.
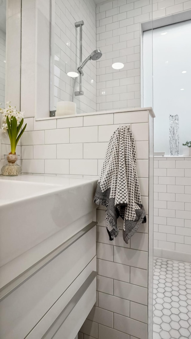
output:
[[[67,76],[79,66],[79,27],[82,27],[82,61],[96,49],[96,7],[93,0],[55,0],[54,107],[58,101],[71,101],[74,79]],[[79,77],[76,91],[79,91]],[[76,96],[77,113],[96,111],[96,61],[89,61],[83,76],[84,96]],[[53,108],[52,108],[53,109]]]

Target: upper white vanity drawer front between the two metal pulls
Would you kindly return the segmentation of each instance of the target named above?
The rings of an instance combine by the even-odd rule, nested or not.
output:
[[[0,338],[29,335],[95,255],[94,226],[0,302]]]

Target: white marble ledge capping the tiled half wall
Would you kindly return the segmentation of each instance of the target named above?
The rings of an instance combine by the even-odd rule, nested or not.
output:
[[[92,112],[92,113],[83,113],[83,114],[74,114],[74,115],[63,115],[60,117],[49,117],[49,118],[35,118],[36,121],[40,120],[53,120],[53,119],[63,119],[63,118],[74,118],[74,117],[83,117],[88,115],[100,115],[100,114],[111,114],[111,113],[128,113],[128,112],[140,112],[140,111],[149,111],[149,114],[152,118],[155,118],[152,107],[142,107],[142,108],[126,108],[126,109],[117,109],[115,111],[103,111],[103,112]],[[29,118],[29,117],[27,117]]]

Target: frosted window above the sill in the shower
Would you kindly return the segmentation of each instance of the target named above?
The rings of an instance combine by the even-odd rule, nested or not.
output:
[[[157,27],[143,34],[143,105],[147,107],[152,96],[150,74],[153,72],[154,152],[165,152],[166,156],[172,155],[169,149],[170,115],[178,115],[179,155],[183,154],[182,144],[190,141],[190,36],[191,20]],[[149,61],[150,49],[153,49],[153,68]],[[177,143],[176,138],[171,147],[176,147],[173,155],[178,155]]]

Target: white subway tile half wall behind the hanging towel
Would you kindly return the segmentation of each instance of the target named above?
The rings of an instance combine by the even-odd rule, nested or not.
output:
[[[128,124],[135,138],[142,202],[148,215],[148,116],[148,111],[135,111],[41,121],[27,118],[23,172],[97,177],[111,135],[120,124]],[[97,303],[79,338],[147,339],[148,222],[128,245],[122,238],[121,220],[119,236],[109,241],[102,206],[97,222]]]

